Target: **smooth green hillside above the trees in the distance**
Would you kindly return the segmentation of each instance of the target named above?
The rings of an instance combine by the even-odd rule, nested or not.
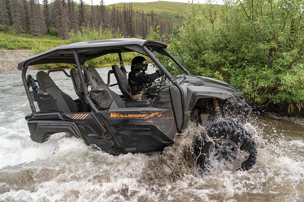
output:
[[[116,7],[123,8],[123,6],[127,6],[130,3],[117,3],[114,4]],[[181,3],[181,2],[167,2],[167,1],[157,1],[157,2],[146,2],[146,3],[138,3],[132,2],[133,9],[136,11],[143,10],[144,12],[150,12],[153,10],[155,13],[167,13],[170,15],[177,15],[180,10],[183,13],[186,13],[189,3]],[[204,5],[204,4],[199,4]],[[113,7],[113,4],[107,5],[109,8]]]

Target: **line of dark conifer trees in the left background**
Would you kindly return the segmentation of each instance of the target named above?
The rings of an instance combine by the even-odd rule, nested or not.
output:
[[[160,25],[160,34],[171,34],[175,23],[164,19],[153,10],[134,10],[132,4],[112,8],[85,4],[82,0],[0,0],[0,25],[4,31],[29,33],[41,37],[55,29],[57,35],[67,39],[69,32],[81,26],[119,30],[124,37],[145,38],[149,30]]]

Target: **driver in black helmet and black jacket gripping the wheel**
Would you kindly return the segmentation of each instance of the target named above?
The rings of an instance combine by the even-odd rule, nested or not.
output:
[[[161,70],[157,70],[153,74],[146,74],[148,68],[148,61],[143,56],[136,56],[131,62],[131,71],[128,76],[128,83],[131,94],[135,100],[141,100],[143,95],[143,86],[153,85],[155,79],[163,75]]]

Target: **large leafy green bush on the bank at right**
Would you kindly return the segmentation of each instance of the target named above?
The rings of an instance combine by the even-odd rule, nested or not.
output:
[[[210,3],[202,8],[190,4],[188,15],[169,36],[172,55],[192,74],[225,80],[240,89],[257,107],[275,104],[289,113],[300,111],[303,2]]]

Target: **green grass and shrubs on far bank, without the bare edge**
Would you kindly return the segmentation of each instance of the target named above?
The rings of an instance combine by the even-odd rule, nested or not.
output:
[[[111,38],[122,38],[122,34],[119,30],[112,33],[110,28],[102,29],[101,27],[90,28],[88,26],[81,27],[79,31],[73,31],[69,33],[71,38],[68,40],[63,40],[57,36],[45,35],[41,38],[33,37],[29,34],[19,34],[9,33],[5,34],[0,29],[0,49],[9,50],[33,50],[34,54],[39,54],[44,51],[56,48],[61,45],[67,45],[82,41],[95,41]],[[128,65],[131,63],[132,58],[138,55],[136,52],[123,53],[124,64]],[[118,54],[108,54],[102,57],[98,57],[89,60],[85,63],[88,67],[105,67],[112,66],[119,63]],[[43,64],[36,65],[38,69],[56,69],[56,68],[72,68],[75,65],[71,64]]]

